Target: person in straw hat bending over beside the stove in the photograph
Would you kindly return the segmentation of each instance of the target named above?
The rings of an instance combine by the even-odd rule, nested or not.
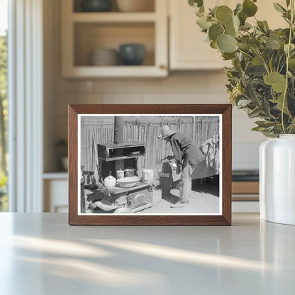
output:
[[[162,126],[161,135],[157,140],[165,140],[170,143],[172,152],[177,162],[177,170],[182,168],[180,179],[180,203],[189,203],[189,196],[191,195],[191,177],[194,172],[194,167],[198,162],[204,161],[202,154],[196,143],[189,138],[187,134],[179,133],[170,130],[169,126]]]

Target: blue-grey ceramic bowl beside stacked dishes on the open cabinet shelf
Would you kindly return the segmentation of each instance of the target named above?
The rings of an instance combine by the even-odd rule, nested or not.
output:
[[[145,59],[145,45],[122,44],[120,58],[124,65],[141,65]]]

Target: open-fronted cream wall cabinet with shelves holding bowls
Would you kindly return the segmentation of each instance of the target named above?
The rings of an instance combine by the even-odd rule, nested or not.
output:
[[[62,77],[166,77],[168,74],[167,1],[154,11],[82,12],[80,1],[62,0]],[[145,45],[143,65],[91,65],[91,52],[119,50],[121,44]]]

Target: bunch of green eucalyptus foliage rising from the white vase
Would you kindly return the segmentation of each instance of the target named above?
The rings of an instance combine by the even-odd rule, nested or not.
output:
[[[274,138],[283,133],[295,133],[295,107],[291,104],[295,99],[292,89],[295,78],[291,79],[295,77],[295,50],[292,48],[295,0],[286,0],[286,11],[274,5],[288,23],[287,28],[275,30],[268,28],[265,21],[258,21],[255,2],[244,0],[235,10],[226,5],[216,6],[214,12],[206,13],[202,0],[189,0],[191,6],[202,5],[198,13],[199,26],[207,33],[204,28],[211,26],[208,38],[215,42],[223,57],[233,63],[227,70],[230,101],[239,101],[238,108],[251,113],[250,117],[260,118],[259,130]],[[255,25],[248,26],[247,18],[255,20]],[[275,126],[269,127],[270,121],[274,121]]]

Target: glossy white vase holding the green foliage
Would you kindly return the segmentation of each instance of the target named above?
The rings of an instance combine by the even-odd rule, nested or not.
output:
[[[295,225],[295,135],[260,145],[260,217]]]

